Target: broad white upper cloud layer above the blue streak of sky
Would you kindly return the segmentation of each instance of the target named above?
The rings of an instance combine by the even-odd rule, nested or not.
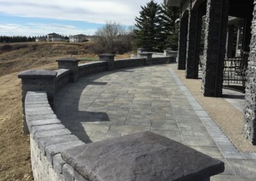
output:
[[[150,0],[0,0],[0,12],[21,17],[83,20],[104,24],[108,20],[134,24],[140,5]],[[161,3],[163,0],[155,0]]]

